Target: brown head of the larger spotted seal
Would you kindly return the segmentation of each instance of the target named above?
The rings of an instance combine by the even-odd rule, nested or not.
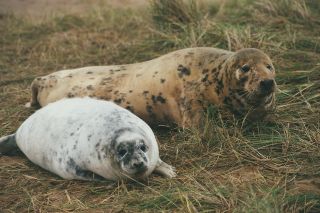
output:
[[[244,107],[271,108],[276,91],[275,69],[261,50],[245,48],[234,53],[229,67],[230,90]],[[243,106],[242,106],[243,107]],[[241,106],[240,106],[241,108]]]

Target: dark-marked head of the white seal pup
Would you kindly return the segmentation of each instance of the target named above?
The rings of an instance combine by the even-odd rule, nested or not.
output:
[[[111,142],[114,166],[125,177],[145,178],[150,173],[149,148],[143,134],[130,128],[117,130]]]

